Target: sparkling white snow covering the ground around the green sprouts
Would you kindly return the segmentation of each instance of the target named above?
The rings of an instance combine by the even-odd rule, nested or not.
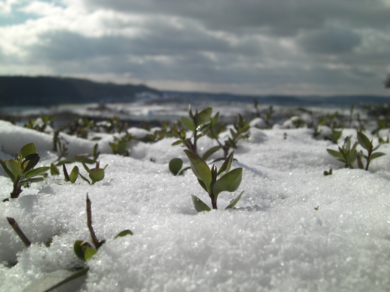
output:
[[[343,131],[340,143],[346,135],[356,141],[351,129]],[[93,142],[69,139],[73,155],[92,151]],[[82,264],[73,243],[90,238],[87,192],[94,229],[107,241],[88,261],[82,286],[78,281],[65,291],[389,290],[389,144],[379,149],[388,155],[374,160],[368,172],[344,169],[326,152],[337,146],[314,139],[311,129],[251,128],[250,139],[240,141],[234,155],[233,167],[243,167],[239,189],[218,197],[218,211],[197,213],[190,195],[210,205],[209,198],[191,171],[170,174],[174,157],[189,165],[183,148],[170,146],[175,139],[135,142],[130,157],[108,154],[103,143],[110,139],[99,142],[106,153],[100,164],[108,164],[103,181],[89,186],[80,178],[65,183],[62,173],[49,175],[20,198],[0,203],[1,291],[20,291],[47,273]],[[27,142],[39,146],[39,166],[57,159],[51,135],[0,121],[0,158],[11,158]],[[199,142],[201,153],[215,146],[209,138]],[[333,175],[324,176],[330,168]],[[1,174],[6,198],[12,183]],[[242,190],[237,209],[223,210]],[[16,219],[32,246],[23,245],[7,216]],[[124,229],[134,236],[113,239]]]

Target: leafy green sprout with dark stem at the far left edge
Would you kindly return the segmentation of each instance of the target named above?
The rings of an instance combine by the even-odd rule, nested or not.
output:
[[[18,156],[15,159],[0,159],[0,165],[3,167],[5,173],[11,178],[14,183],[14,189],[11,192],[11,199],[19,197],[23,192],[21,187],[26,183],[34,183],[36,181],[42,181],[43,178],[34,178],[44,174],[50,169],[48,166],[38,167],[34,169],[34,166],[39,162],[39,154],[34,143],[28,143],[23,146]]]

